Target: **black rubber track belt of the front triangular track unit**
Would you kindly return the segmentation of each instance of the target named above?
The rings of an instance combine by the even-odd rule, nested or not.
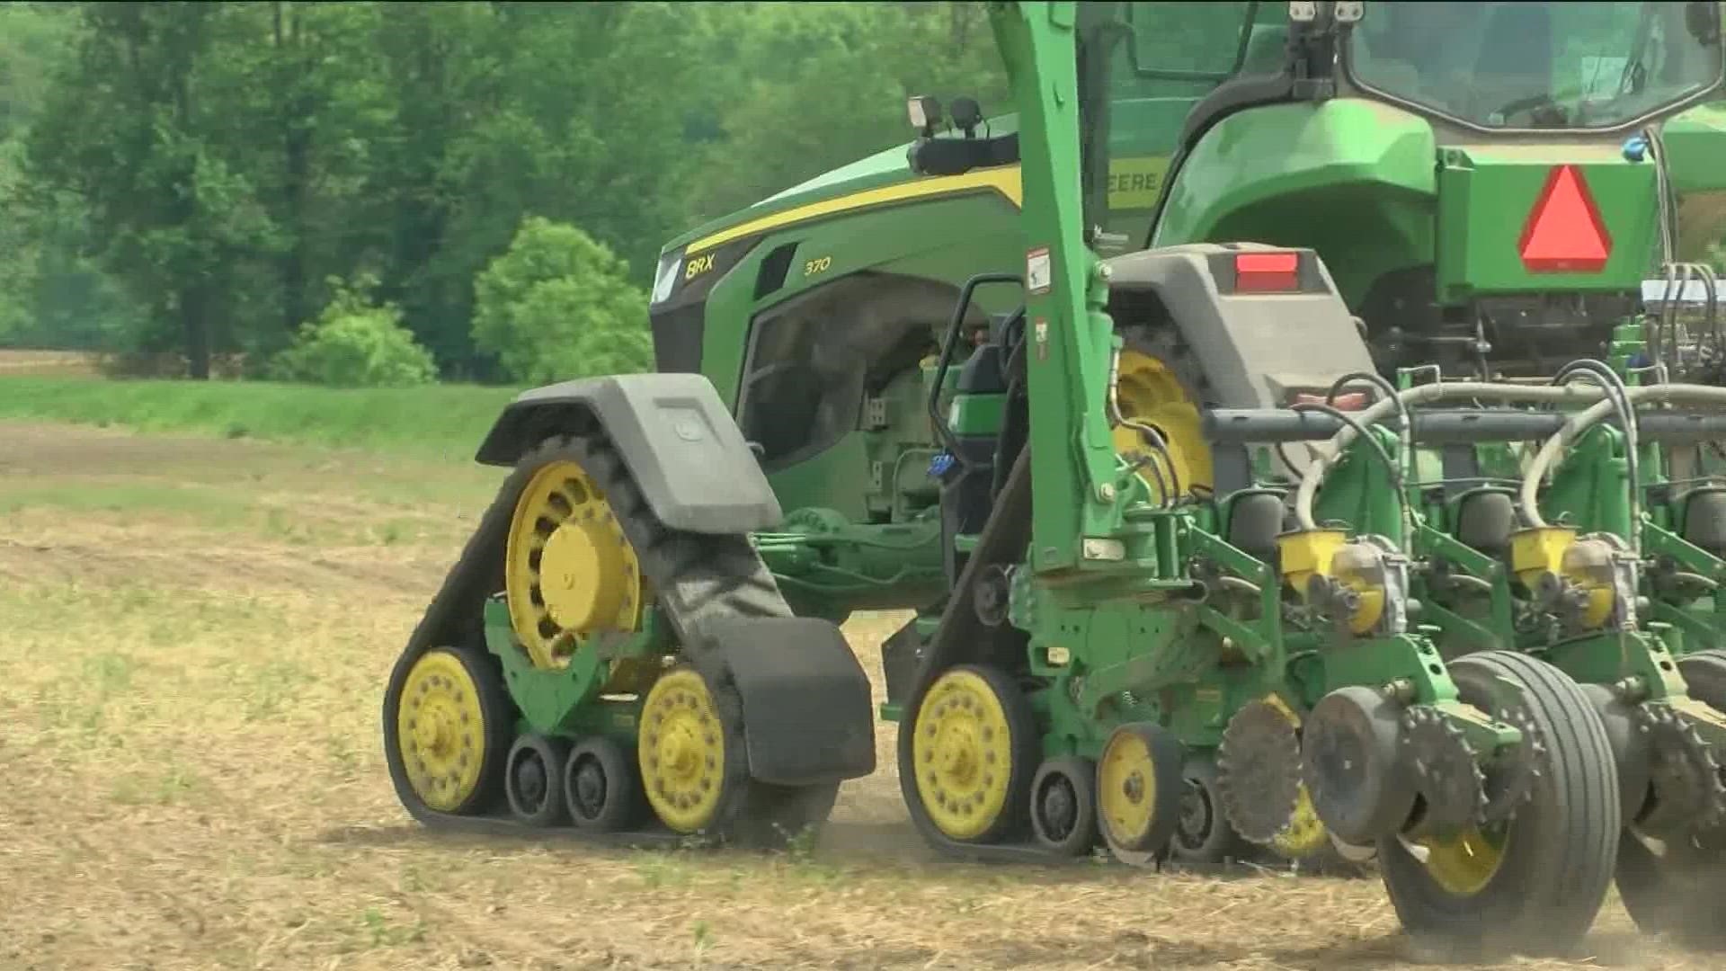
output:
[[[621,454],[597,432],[547,439],[516,463],[414,627],[402,658],[397,660],[397,670],[440,644],[483,644],[482,613],[485,601],[504,584],[504,548],[516,501],[545,460],[571,451],[614,510],[623,536],[635,548],[642,575],[652,586],[652,596],[671,622],[683,657],[715,686],[720,717],[740,736],[742,703],[725,658],[713,648],[708,624],[721,617],[791,617],[792,612],[747,536],[704,536],[666,527],[628,473]],[[747,758],[740,746],[734,748],[737,748],[732,752],[735,758]],[[456,816],[426,807],[402,781],[395,781],[395,791],[414,819],[437,829],[566,836],[620,847],[690,840],[658,821],[640,831],[601,835],[573,826],[528,826],[511,817],[507,809],[483,816]],[[742,800],[734,802],[739,807],[742,803]]]

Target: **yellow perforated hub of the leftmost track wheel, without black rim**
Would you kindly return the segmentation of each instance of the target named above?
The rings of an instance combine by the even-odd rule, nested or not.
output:
[[[485,710],[456,655],[432,650],[414,662],[402,682],[395,733],[407,783],[428,807],[454,812],[478,788]]]

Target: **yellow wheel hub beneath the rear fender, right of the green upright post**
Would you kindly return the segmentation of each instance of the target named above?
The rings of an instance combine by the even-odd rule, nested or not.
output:
[[[1139,468],[1139,479],[1151,489],[1153,499],[1162,498],[1155,470],[1162,472],[1165,484],[1179,486],[1181,492],[1194,486],[1212,487],[1210,447],[1205,444],[1198,406],[1167,365],[1143,351],[1122,349],[1115,399],[1124,418],[1150,425],[1169,446],[1169,458],[1163,460],[1137,428],[1118,425],[1113,430],[1115,451],[1122,458],[1153,463]],[[1169,482],[1170,466],[1175,482]]]

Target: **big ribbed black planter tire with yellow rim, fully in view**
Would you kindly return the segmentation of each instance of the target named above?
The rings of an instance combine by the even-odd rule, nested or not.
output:
[[[1538,658],[1464,655],[1450,676],[1462,701],[1524,727],[1538,776],[1502,824],[1417,838],[1414,848],[1381,840],[1391,904],[1410,935],[1471,959],[1569,952],[1593,924],[1619,852],[1607,729],[1581,686]]]

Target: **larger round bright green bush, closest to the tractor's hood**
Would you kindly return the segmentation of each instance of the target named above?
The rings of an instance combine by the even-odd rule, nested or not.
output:
[[[473,342],[518,382],[652,368],[647,295],[609,247],[530,216],[475,285]]]

